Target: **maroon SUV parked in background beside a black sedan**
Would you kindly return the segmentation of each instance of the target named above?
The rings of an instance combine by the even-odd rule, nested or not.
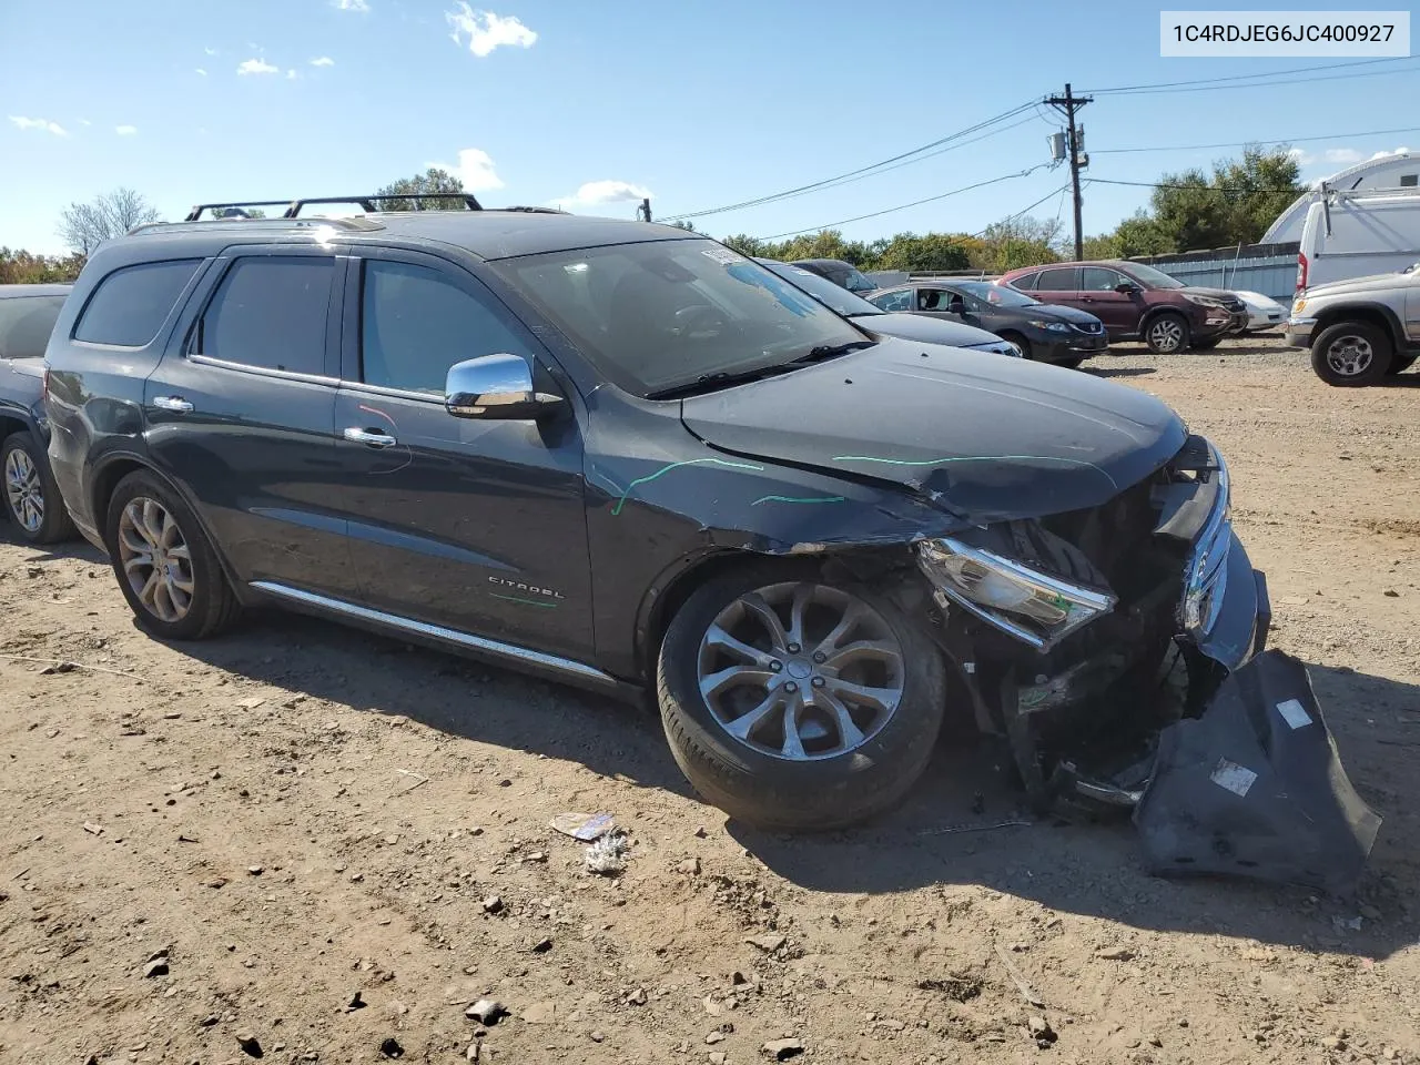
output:
[[[1137,338],[1156,355],[1213,348],[1248,324],[1233,293],[1194,288],[1143,263],[1052,263],[1011,270],[1000,281],[1041,302],[1089,311],[1112,341]]]

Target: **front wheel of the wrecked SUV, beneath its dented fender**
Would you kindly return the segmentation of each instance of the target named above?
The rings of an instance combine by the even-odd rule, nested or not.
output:
[[[676,764],[706,799],[761,828],[829,829],[892,808],[922,775],[946,677],[886,596],[757,565],[680,608],[657,694]]]

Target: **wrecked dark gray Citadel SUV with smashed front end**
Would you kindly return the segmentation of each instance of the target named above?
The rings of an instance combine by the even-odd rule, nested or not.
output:
[[[890,807],[949,710],[1044,801],[1150,750],[1164,663],[1197,709],[1267,632],[1223,459],[1157,399],[865,332],[674,227],[143,227],[48,364],[64,498],[151,633],[281,605],[655,693],[764,825]]]

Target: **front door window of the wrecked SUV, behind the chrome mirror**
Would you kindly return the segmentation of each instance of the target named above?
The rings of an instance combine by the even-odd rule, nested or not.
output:
[[[490,304],[429,267],[365,263],[361,369],[371,385],[443,395],[449,368],[527,345]]]

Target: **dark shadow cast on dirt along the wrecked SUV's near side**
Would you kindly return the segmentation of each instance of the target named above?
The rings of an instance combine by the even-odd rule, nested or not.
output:
[[[172,646],[293,694],[400,714],[452,737],[577,761],[604,777],[694,798],[656,717],[611,699],[298,615],[263,613],[222,640]],[[1038,821],[1012,782],[1005,747],[957,730],[943,737],[903,807],[872,825],[804,836],[734,821],[726,828],[772,872],[809,890],[984,885],[1139,929],[1386,957],[1417,937],[1400,885],[1413,882],[1420,856],[1420,819],[1406,815],[1420,790],[1403,775],[1387,778],[1389,788],[1372,782],[1373,763],[1393,753],[1366,731],[1365,719],[1389,707],[1392,719],[1409,713],[1420,723],[1420,687],[1323,667],[1312,667],[1312,676],[1331,724],[1340,726],[1352,781],[1386,818],[1359,900],[1247,880],[1150,876],[1126,819]],[[1392,733],[1393,743],[1407,738],[1400,724]],[[1420,741],[1420,728],[1409,738]],[[1030,824],[1005,824],[1017,821]],[[1363,919],[1359,930],[1336,923],[1355,922],[1362,903],[1369,913],[1379,909],[1382,920]]]

